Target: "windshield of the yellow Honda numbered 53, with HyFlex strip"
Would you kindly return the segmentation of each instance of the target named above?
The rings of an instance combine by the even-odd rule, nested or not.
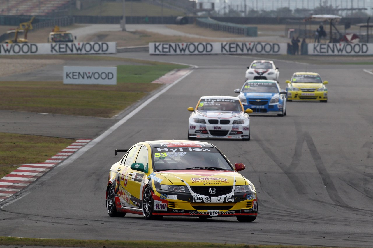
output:
[[[215,169],[233,171],[215,147],[154,147],[154,171]]]

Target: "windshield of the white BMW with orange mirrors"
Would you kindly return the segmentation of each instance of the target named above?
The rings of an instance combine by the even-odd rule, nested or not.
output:
[[[241,112],[239,100],[230,99],[201,99],[197,106],[199,111],[235,111]]]

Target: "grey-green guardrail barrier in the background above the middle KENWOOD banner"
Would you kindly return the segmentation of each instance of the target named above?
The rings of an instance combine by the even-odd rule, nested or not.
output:
[[[219,22],[217,20],[213,20],[211,18],[197,18],[196,24],[203,28],[209,28],[216,31],[223,31],[228,32],[231,34],[238,34],[244,36],[258,36],[258,28],[257,27],[249,27],[246,25],[239,25],[229,22]]]

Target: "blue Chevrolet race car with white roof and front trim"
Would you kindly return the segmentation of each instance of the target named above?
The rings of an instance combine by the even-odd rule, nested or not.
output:
[[[252,114],[286,115],[286,90],[280,89],[275,80],[247,80],[239,93],[244,109],[253,109]]]

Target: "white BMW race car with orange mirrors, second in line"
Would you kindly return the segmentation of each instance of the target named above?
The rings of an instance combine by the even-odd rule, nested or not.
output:
[[[244,110],[234,96],[202,96],[195,109],[189,107],[188,139],[242,139],[250,140],[252,109]]]

